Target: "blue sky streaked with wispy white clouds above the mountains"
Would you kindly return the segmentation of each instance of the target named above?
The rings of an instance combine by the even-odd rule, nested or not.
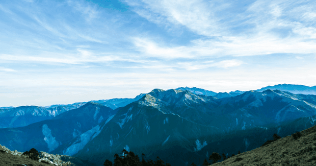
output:
[[[1,0],[0,107],[316,85],[316,1]]]

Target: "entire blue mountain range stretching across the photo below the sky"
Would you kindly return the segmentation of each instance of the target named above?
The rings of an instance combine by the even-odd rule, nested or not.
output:
[[[0,144],[20,152],[35,148],[69,155],[97,165],[113,160],[122,149],[151,159],[159,156],[171,165],[201,165],[212,152],[250,151],[274,133],[283,137],[315,125],[314,95],[268,89],[206,96],[207,91],[192,89],[153,89],[122,107],[118,107],[120,100],[112,100],[115,109],[104,106],[107,101],[88,102],[28,126],[0,129],[4,135]],[[58,107],[62,106],[47,109]],[[1,120],[18,112],[0,110]]]

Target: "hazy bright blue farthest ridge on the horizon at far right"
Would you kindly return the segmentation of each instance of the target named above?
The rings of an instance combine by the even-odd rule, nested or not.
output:
[[[293,85],[293,84],[278,84],[274,86],[267,86],[261,89],[257,89],[256,91],[265,91],[267,89],[270,90],[281,90],[288,91],[294,94],[313,94],[316,95],[316,86],[304,86],[304,85]]]

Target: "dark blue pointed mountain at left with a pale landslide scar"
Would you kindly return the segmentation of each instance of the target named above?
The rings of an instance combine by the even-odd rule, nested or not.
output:
[[[80,108],[61,113],[51,120],[24,127],[0,129],[0,143],[20,152],[32,148],[51,152],[78,135],[84,136],[83,133],[92,134],[85,135],[86,141],[93,139],[93,131],[99,130],[99,124],[113,117],[115,113],[116,110],[109,107],[88,102]]]

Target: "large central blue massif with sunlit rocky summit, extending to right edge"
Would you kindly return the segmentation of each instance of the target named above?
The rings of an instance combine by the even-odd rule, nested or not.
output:
[[[315,115],[315,105],[316,96],[278,90],[247,91],[240,96],[215,99],[190,91],[154,89],[141,100],[121,108],[110,121],[100,124],[102,129],[95,131],[98,135],[85,146],[81,145],[83,137],[77,137],[54,153],[85,158],[101,165],[125,148],[148,154],[152,159],[160,156],[171,165],[186,165],[208,157],[209,145],[225,144],[224,140],[219,141],[231,134],[238,137],[241,132],[247,133],[246,138],[239,135],[242,142],[235,145],[240,145],[236,146],[240,150],[249,150],[252,145],[257,146],[258,140],[271,137],[271,133],[265,136],[260,133],[258,139],[251,133]],[[279,130],[287,132],[295,128]],[[226,151],[231,152],[232,145],[227,145],[230,150]]]

